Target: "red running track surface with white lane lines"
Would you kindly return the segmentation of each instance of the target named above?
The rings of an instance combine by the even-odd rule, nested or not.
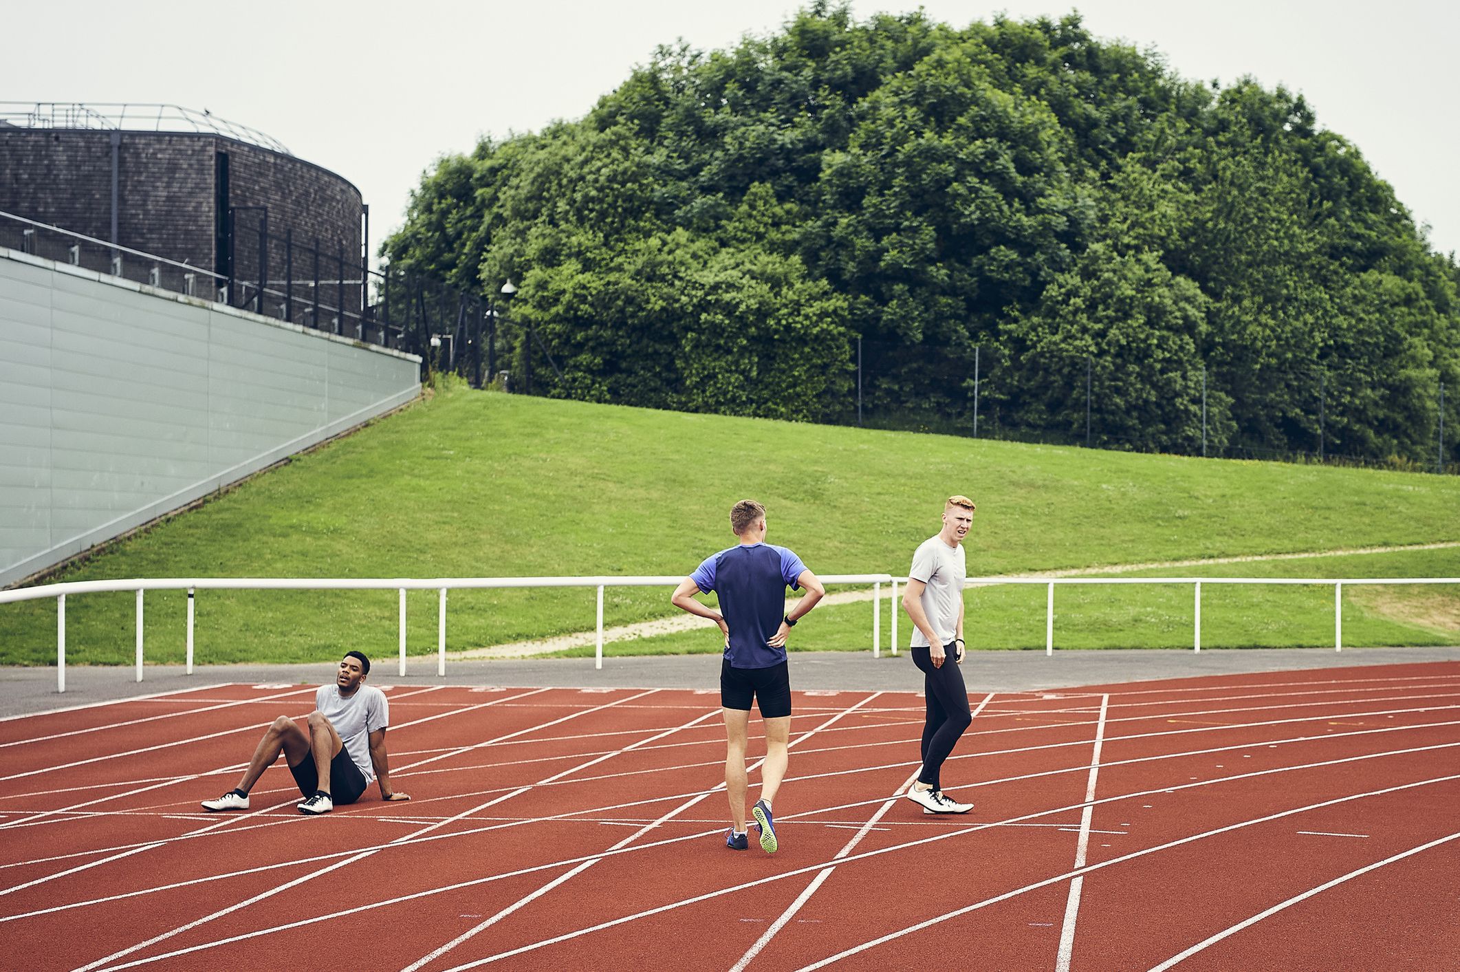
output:
[[[0,721],[0,966],[1460,963],[1456,663],[975,692],[965,817],[895,795],[920,698],[797,693],[774,857],[724,848],[708,692],[393,686],[410,803],[302,817],[280,763],[203,814],[312,692]]]

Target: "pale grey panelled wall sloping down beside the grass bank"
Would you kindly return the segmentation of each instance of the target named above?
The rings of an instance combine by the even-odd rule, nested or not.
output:
[[[420,359],[0,248],[0,585],[415,398]]]

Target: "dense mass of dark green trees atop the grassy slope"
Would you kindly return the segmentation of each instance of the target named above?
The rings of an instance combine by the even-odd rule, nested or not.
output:
[[[1432,455],[1460,270],[1301,98],[1080,18],[815,3],[660,47],[581,120],[444,156],[384,245],[495,293],[549,394],[988,420],[1111,447]],[[537,359],[534,358],[534,362]],[[534,369],[537,371],[537,369]],[[1089,401],[1086,401],[1089,388]],[[1454,435],[1451,435],[1454,432]]]

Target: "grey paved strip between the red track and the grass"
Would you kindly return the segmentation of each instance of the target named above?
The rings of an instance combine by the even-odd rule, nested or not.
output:
[[[1378,666],[1409,661],[1460,661],[1453,648],[1329,648],[1206,649],[1169,648],[1115,651],[977,651],[964,663],[969,692],[1031,692],[1080,684],[1183,679],[1241,671],[1291,671]],[[568,687],[663,687],[714,689],[718,686],[718,655],[653,655],[606,658],[603,670],[591,658],[515,658],[499,661],[451,661],[447,676],[437,676],[435,655],[412,658],[406,677],[394,658],[383,660],[371,673],[371,684],[499,684]],[[181,666],[147,666],[145,682],[134,680],[131,667],[69,666],[66,693],[55,692],[55,668],[0,667],[0,717],[136,698],[155,692],[180,692],[220,682],[321,684],[334,674],[334,664],[305,666],[200,666],[194,674]],[[869,651],[791,652],[791,686],[796,689],[872,690],[921,689],[921,676],[907,652],[896,657]]]

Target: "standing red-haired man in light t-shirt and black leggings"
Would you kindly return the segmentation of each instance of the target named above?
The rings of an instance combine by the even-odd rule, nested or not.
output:
[[[943,528],[918,544],[902,594],[902,610],[912,619],[912,664],[923,673],[927,718],[923,724],[923,769],[908,800],[927,813],[968,813],[971,803],[943,794],[939,776],[943,760],[968,728],[968,690],[964,687],[964,537],[974,525],[974,501],[949,496],[943,504]],[[948,664],[953,655],[955,664]]]

